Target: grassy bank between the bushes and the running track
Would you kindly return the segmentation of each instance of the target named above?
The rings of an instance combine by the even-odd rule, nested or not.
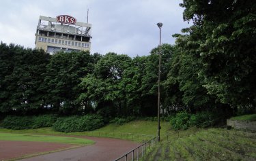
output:
[[[161,134],[165,135],[170,128],[169,122],[161,122]],[[94,137],[113,137],[120,139],[130,139],[133,141],[145,141],[156,136],[157,122],[153,121],[132,121],[124,125],[109,124],[98,130],[91,132],[57,132],[52,128],[36,128],[26,130],[10,130],[0,128],[0,132],[33,134],[33,135],[77,135]]]

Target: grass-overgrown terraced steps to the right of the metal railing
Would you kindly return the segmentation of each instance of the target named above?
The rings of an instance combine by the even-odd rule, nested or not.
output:
[[[144,160],[256,160],[256,135],[221,128],[175,132]]]

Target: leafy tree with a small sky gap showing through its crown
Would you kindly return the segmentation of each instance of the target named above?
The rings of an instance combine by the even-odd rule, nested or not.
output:
[[[124,114],[126,92],[122,86],[124,72],[130,67],[131,58],[126,55],[108,53],[94,66],[94,73],[87,75],[81,82],[83,98],[89,98],[96,105],[96,110],[106,110],[109,106],[111,115]]]

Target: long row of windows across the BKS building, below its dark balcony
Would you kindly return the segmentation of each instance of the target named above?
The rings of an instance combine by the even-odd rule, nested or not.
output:
[[[81,43],[76,41],[68,41],[68,40],[61,40],[61,39],[51,39],[51,38],[45,38],[45,37],[38,37],[38,41],[41,42],[48,42],[48,43],[57,43],[67,46],[79,46],[83,48],[89,48],[89,43]]]

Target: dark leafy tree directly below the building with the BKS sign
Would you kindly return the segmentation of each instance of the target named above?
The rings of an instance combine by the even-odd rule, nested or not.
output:
[[[44,84],[44,104],[61,113],[83,110],[79,101],[81,78],[94,69],[95,58],[89,52],[58,52],[47,65]]]

